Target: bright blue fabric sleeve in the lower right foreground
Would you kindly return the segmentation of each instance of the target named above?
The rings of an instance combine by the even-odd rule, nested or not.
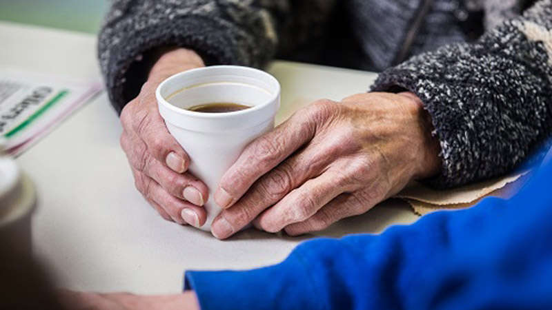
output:
[[[279,265],[188,271],[201,309],[552,309],[552,164],[486,198],[383,234],[322,238]]]

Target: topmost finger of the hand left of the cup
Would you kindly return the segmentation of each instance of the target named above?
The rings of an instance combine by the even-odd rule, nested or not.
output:
[[[128,134],[134,132],[141,138],[148,152],[160,163],[164,163],[177,173],[185,172],[188,169],[188,154],[172,137],[165,125],[163,118],[157,110],[155,96],[150,87],[144,87],[140,94],[139,101],[133,105],[127,105],[121,112],[121,122]]]

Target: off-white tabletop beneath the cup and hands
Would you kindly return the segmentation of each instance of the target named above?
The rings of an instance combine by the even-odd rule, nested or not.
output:
[[[101,79],[96,38],[89,34],[0,23],[0,65],[78,79]],[[282,83],[282,121],[313,99],[365,92],[375,74],[275,61]],[[62,287],[92,291],[171,293],[186,269],[244,269],[284,259],[313,236],[377,233],[417,220],[398,201],[348,218],[313,235],[292,238],[250,229],[220,241],[163,220],[134,187],[119,147],[119,118],[102,92],[20,156],[39,195],[33,218],[35,253]]]

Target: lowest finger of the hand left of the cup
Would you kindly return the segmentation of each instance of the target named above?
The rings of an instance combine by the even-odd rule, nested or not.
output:
[[[133,172],[137,182],[136,187],[165,219],[172,219],[179,224],[188,223],[195,227],[204,225],[207,216],[203,207],[197,207],[185,200],[176,198],[152,178],[135,169],[133,169]]]

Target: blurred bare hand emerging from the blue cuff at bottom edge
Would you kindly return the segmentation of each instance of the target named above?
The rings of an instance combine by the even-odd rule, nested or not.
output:
[[[70,310],[195,310],[199,302],[193,291],[175,295],[139,296],[130,293],[79,293],[61,291],[59,299]]]

